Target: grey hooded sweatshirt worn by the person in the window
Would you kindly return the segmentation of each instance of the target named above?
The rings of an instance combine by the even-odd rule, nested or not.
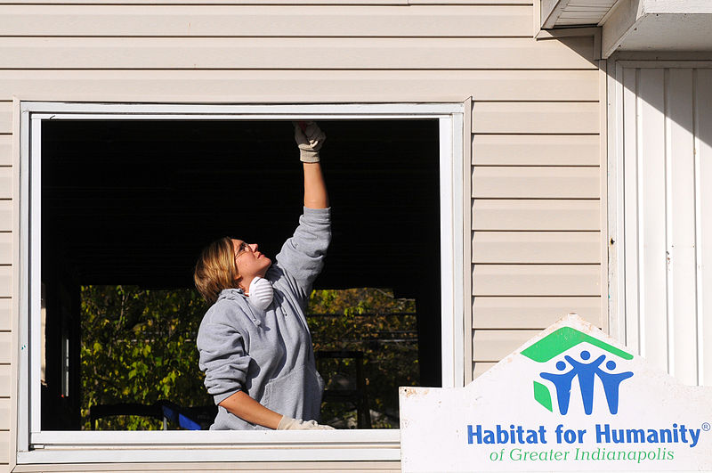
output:
[[[230,289],[208,309],[198,330],[199,366],[215,404],[243,391],[274,412],[319,421],[324,381],[304,312],[329,241],[330,209],[304,208],[265,274],[274,288],[271,305],[260,310],[243,290]],[[219,406],[210,429],[266,428]]]

